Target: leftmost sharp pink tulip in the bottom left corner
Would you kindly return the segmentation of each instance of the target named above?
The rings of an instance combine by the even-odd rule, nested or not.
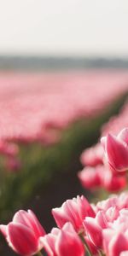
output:
[[[31,210],[16,212],[12,222],[1,224],[0,230],[9,246],[20,255],[30,256],[42,248],[39,238],[45,235],[45,231]]]

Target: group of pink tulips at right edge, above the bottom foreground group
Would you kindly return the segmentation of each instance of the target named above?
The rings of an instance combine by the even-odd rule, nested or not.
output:
[[[104,188],[110,192],[124,189],[128,170],[128,128],[117,136],[102,137],[101,143],[84,151],[81,162],[86,165],[79,172],[84,188]]]

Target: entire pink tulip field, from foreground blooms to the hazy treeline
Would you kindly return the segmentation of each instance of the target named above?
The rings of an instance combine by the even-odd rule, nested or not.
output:
[[[128,256],[127,70],[0,72],[1,255]]]

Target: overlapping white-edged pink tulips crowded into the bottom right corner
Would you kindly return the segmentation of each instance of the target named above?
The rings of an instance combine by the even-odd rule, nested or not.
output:
[[[90,241],[107,256],[128,255],[127,192],[98,202],[95,211],[95,218],[84,219],[85,233]]]

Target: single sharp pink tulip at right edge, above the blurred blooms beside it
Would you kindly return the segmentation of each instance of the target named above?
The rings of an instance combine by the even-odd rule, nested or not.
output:
[[[120,137],[114,137],[111,134],[102,138],[102,144],[109,166],[117,172],[126,171],[128,169],[128,144]]]

